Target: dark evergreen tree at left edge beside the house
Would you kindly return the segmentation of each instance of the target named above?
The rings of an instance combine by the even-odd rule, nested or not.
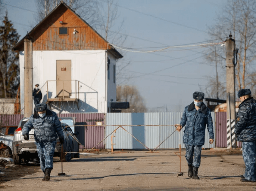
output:
[[[20,84],[19,53],[12,50],[20,35],[8,20],[8,12],[0,26],[0,97],[15,98]]]

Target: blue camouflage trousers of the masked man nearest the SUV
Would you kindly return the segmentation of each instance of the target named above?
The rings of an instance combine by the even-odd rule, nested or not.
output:
[[[36,149],[40,159],[40,167],[42,171],[45,168],[53,168],[53,154],[55,151],[56,141],[52,142],[36,142]]]

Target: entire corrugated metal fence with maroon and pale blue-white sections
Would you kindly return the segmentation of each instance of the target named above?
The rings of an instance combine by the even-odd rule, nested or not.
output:
[[[210,145],[209,134],[205,133],[204,148],[226,147],[226,112],[211,112],[215,130],[215,143]],[[215,119],[216,115],[216,119]],[[0,115],[0,125],[17,126],[24,115]],[[106,136],[108,136],[117,126],[84,126],[95,125],[96,121],[101,121],[102,125],[174,125],[180,123],[182,116],[181,112],[166,112],[166,113],[74,113],[74,114],[58,114],[59,117],[76,117],[75,130],[79,132],[78,138],[81,144],[87,149],[91,149]],[[215,127],[216,124],[216,127]],[[173,126],[125,126],[124,127],[133,136],[139,139],[147,147],[153,149],[164,141],[174,130]],[[207,130],[206,130],[207,131]],[[144,146],[136,141],[123,129],[119,128],[113,138],[114,149],[144,149]],[[181,131],[181,145],[183,144],[183,129]],[[106,144],[106,145],[105,145]],[[237,143],[241,147],[241,142]],[[82,149],[83,147],[80,146]],[[106,138],[99,144],[97,149],[111,148],[111,136]],[[174,132],[163,144],[158,147],[160,149],[179,148],[179,133]]]

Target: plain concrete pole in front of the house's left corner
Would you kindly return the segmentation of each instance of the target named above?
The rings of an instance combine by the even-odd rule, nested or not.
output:
[[[32,115],[32,40],[24,39],[24,117]]]

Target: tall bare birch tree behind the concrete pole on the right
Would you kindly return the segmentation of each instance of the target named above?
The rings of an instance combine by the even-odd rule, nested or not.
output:
[[[239,49],[235,67],[237,90],[246,88],[252,83],[251,66],[256,58],[255,8],[255,0],[228,0],[226,7],[217,18],[217,23],[209,28],[211,38],[225,41],[231,32],[232,38],[236,41],[235,49]],[[217,57],[225,60],[223,48],[217,49]]]

